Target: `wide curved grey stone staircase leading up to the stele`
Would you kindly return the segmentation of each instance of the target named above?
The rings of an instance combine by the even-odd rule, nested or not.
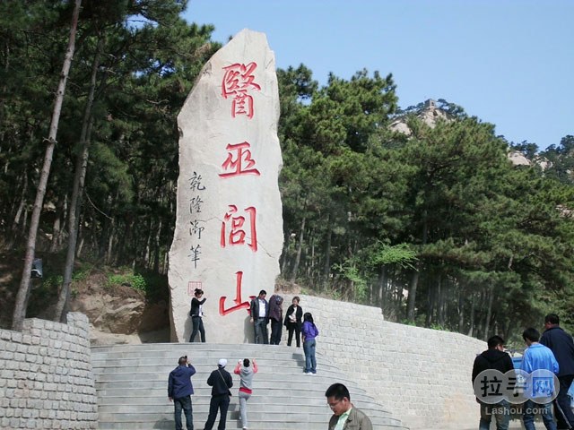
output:
[[[173,404],[168,400],[168,375],[178,357],[187,355],[196,367],[192,377],[194,427],[203,429],[207,420],[211,387],[206,383],[220,358],[233,376],[233,396],[227,428],[241,428],[239,419],[239,375],[233,369],[239,359],[255,358],[259,372],[248,400],[249,429],[325,430],[331,410],[325,391],[331,383],[344,383],[352,403],[370,417],[374,429],[405,429],[391,413],[347,379],[327,357],[317,352],[317,374],[303,374],[302,348],[277,345],[222,345],[209,343],[146,343],[92,347],[91,362],[98,393],[100,429],[170,429]],[[365,369],[366,372],[372,369]],[[185,428],[185,417],[182,417]],[[219,422],[216,420],[214,428]]]

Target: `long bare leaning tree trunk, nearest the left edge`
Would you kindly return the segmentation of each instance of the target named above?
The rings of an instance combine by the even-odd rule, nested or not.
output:
[[[38,191],[36,193],[36,200],[34,201],[34,210],[32,211],[32,219],[30,221],[30,230],[28,233],[28,242],[26,244],[26,255],[24,257],[24,268],[22,270],[22,280],[16,295],[16,302],[14,305],[12,329],[14,331],[22,331],[24,318],[26,318],[26,308],[28,307],[28,299],[30,297],[30,272],[32,269],[32,261],[36,253],[36,236],[38,236],[39,216],[44,204],[44,196],[46,195],[46,185],[48,184],[48,176],[50,175],[50,168],[52,166],[52,158],[54,156],[54,147],[56,146],[57,127],[60,121],[60,113],[62,111],[62,103],[64,101],[65,84],[70,72],[72,64],[72,57],[74,56],[75,49],[75,33],[78,27],[78,16],[80,14],[80,4],[82,0],[75,0],[74,14],[72,16],[72,24],[70,26],[70,39],[67,50],[65,52],[64,64],[62,65],[62,74],[56,92],[56,101],[54,110],[52,112],[52,120],[48,134],[46,153],[44,155],[44,165],[39,176]]]

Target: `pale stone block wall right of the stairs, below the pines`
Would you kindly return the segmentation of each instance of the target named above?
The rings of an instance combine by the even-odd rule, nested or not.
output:
[[[283,312],[291,305],[285,296]],[[478,426],[471,374],[486,343],[468,336],[385,321],[378,307],[300,295],[320,334],[317,355],[413,429]],[[285,336],[285,334],[283,334]],[[320,372],[317,357],[317,372]]]

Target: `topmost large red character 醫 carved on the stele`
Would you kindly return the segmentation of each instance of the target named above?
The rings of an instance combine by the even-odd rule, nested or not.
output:
[[[248,116],[249,119],[253,117],[253,97],[248,94],[248,90],[261,90],[252,74],[256,68],[257,63],[254,62],[247,65],[235,63],[223,67],[225,75],[222,82],[222,96],[224,99],[233,97],[232,118],[238,115]]]

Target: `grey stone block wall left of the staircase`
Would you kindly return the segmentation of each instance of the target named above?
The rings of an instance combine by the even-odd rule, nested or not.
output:
[[[98,428],[89,330],[79,313],[0,330],[0,428]]]

